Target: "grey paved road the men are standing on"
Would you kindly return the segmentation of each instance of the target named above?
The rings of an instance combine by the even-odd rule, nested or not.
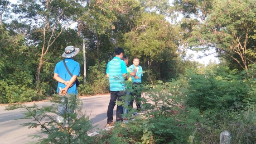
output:
[[[98,125],[96,128],[103,129],[106,125],[106,112],[109,99],[110,95],[81,98],[83,102],[82,111],[87,111],[86,113],[87,115],[90,115],[90,120],[92,121],[93,126]],[[52,103],[37,102],[36,104],[41,107],[51,105]],[[28,103],[27,105],[33,105],[33,103]],[[0,106],[0,144],[27,144],[29,141],[36,141],[36,139],[28,137],[28,135],[39,134],[38,131],[40,128],[28,129],[28,127],[19,126],[20,124],[29,121],[27,119],[14,120],[23,117],[20,113],[21,110],[5,111],[4,109],[5,106]],[[114,108],[113,116],[114,118],[116,117],[116,107]]]

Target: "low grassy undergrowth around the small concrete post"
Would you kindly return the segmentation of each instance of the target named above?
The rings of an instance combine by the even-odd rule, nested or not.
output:
[[[189,135],[189,144],[218,144],[220,133],[231,133],[231,144],[255,143],[256,112],[248,109],[231,108],[218,113],[201,112],[203,121],[195,125],[193,135]]]

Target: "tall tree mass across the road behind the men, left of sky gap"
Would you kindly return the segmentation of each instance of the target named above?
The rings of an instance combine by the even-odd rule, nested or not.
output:
[[[144,68],[144,82],[168,81],[193,62],[179,48],[179,25],[170,24],[170,3],[148,0],[2,0],[0,103],[44,99],[56,93],[55,64],[68,45],[80,48],[80,95],[107,93],[106,63],[121,46]],[[155,6],[155,4],[157,6]],[[82,43],[86,46],[84,77]],[[197,63],[198,64],[198,63]]]

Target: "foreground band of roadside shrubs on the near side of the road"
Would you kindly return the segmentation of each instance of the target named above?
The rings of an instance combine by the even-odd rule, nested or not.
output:
[[[39,108],[14,104],[6,110],[24,108],[26,118],[37,122],[23,126],[41,126],[42,132],[48,135],[39,141],[42,144],[73,144],[84,139],[88,144],[217,144],[224,130],[231,132],[232,144],[255,143],[256,86],[255,78],[251,78],[256,73],[255,68],[245,72],[215,66],[205,74],[188,71],[185,76],[179,75],[178,80],[158,81],[153,88],[152,85],[140,85],[136,91],[129,90],[145,92],[137,103],[142,103],[146,113],[134,117],[135,109],[126,106],[130,109],[124,114],[130,118],[128,123],[115,123],[110,130],[101,130],[93,137],[85,134],[92,126],[79,109],[82,104],[79,99],[77,112],[63,115],[66,119],[72,117],[68,127],[75,130],[75,134],[58,131],[54,105]],[[59,103],[58,97],[53,102]],[[48,121],[43,122],[44,119]]]

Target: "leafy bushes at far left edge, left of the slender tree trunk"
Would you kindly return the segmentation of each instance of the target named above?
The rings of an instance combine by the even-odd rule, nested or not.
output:
[[[3,31],[0,34],[0,103],[44,99],[43,93],[37,93],[34,86],[34,67],[30,65],[33,60],[25,54],[28,47],[24,36]]]

